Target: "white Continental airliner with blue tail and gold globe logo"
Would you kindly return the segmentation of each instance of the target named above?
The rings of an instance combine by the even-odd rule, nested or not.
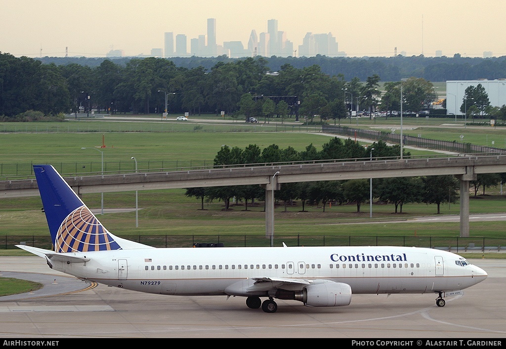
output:
[[[33,168],[54,251],[18,247],[85,281],[166,295],[242,296],[249,308],[274,313],[275,298],[340,306],[352,293],[435,293],[444,306],[445,296],[487,278],[466,259],[429,248],[153,248],[112,235],[52,166]]]

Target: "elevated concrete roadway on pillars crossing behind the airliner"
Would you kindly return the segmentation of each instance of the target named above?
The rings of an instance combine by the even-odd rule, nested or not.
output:
[[[274,190],[281,183],[360,178],[453,175],[460,180],[460,235],[469,236],[469,183],[480,173],[506,172],[506,154],[447,158],[322,161],[224,166],[174,172],[65,177],[79,195],[92,192],[155,190],[228,185],[261,185],[266,190],[266,234],[274,231]],[[462,195],[466,193],[466,195]],[[38,196],[35,179],[0,181],[0,198]]]

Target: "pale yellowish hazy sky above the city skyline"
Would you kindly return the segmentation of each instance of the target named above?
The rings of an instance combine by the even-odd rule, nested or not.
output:
[[[163,48],[163,33],[206,34],[217,43],[267,32],[277,19],[294,49],[307,32],[331,32],[348,57],[506,56],[506,0],[0,0],[0,51],[14,56],[126,56]]]

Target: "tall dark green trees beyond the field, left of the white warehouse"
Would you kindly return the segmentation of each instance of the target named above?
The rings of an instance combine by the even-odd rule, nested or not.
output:
[[[29,121],[26,114],[19,115],[28,110],[45,115],[91,110],[161,114],[167,108],[172,113],[223,111],[234,117],[335,121],[352,111],[398,110],[400,83],[387,84],[380,99],[380,81],[375,73],[365,81],[346,81],[344,74],[326,74],[316,64],[296,68],[285,63],[273,74],[263,57],[218,61],[206,69],[178,67],[154,57],[130,59],[124,65],[106,59],[90,67],[43,64],[1,53],[0,116],[4,121]],[[417,112],[435,98],[432,83],[422,78],[411,77],[403,89],[406,111]]]

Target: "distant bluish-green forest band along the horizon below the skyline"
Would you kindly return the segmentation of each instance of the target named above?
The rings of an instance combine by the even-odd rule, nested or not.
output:
[[[135,57],[86,58],[86,57],[41,57],[36,58],[45,64],[56,65],[79,64],[96,67],[104,59],[125,66]],[[177,67],[193,69],[199,66],[209,70],[219,62],[229,63],[244,58],[218,57],[172,57]],[[381,71],[382,81],[399,81],[403,77],[414,76],[429,81],[447,80],[477,80],[500,79],[506,77],[506,57],[462,57],[455,54],[451,57],[425,57],[397,55],[395,57],[327,57],[316,55],[314,57],[268,57],[267,67],[270,71],[279,71],[284,64],[290,64],[297,69],[312,65],[321,67],[324,74],[333,76],[343,74],[347,81],[358,77],[365,81]]]

